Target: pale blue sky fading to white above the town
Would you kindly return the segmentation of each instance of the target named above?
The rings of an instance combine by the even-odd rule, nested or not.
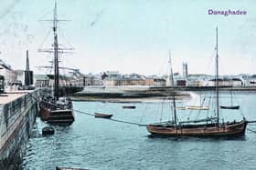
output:
[[[22,69],[29,49],[32,69],[47,65],[50,58],[37,48],[49,46],[50,35],[41,44],[50,25],[38,20],[50,19],[53,5],[53,0],[1,0],[0,58]],[[212,74],[218,25],[220,73],[254,74],[255,6],[254,0],[59,0],[59,18],[72,20],[59,25],[59,42],[76,49],[61,65],[83,73],[161,75],[167,73],[171,49],[175,72],[181,72],[186,61],[189,73]],[[248,14],[208,15],[208,9]]]

